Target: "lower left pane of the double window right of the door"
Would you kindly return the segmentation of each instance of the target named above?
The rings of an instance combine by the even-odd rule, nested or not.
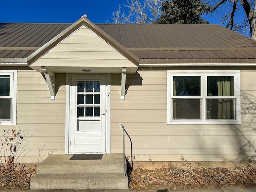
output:
[[[173,99],[173,119],[201,119],[200,99]]]

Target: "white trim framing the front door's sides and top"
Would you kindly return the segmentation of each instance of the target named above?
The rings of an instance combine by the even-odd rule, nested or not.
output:
[[[66,73],[66,120],[65,120],[65,154],[69,154],[69,126],[70,126],[70,83],[72,75],[84,75],[85,74],[69,74]],[[86,74],[87,75],[87,74]],[[100,74],[92,74],[100,75]],[[110,74],[106,75],[106,153],[110,153]]]

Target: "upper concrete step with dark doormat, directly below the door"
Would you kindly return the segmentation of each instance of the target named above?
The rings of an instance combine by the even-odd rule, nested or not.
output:
[[[51,155],[37,166],[38,174],[123,173],[122,154],[103,154],[102,160],[69,160],[72,155]]]

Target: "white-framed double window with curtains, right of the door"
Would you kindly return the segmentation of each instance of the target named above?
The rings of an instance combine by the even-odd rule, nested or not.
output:
[[[240,124],[239,71],[168,71],[168,124]]]

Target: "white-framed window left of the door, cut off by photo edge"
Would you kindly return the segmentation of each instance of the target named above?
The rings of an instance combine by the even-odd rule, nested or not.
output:
[[[0,70],[0,122],[16,124],[17,71]]]

